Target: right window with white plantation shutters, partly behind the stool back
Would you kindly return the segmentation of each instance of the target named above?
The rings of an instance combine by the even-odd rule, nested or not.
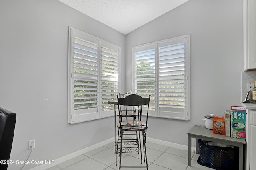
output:
[[[190,35],[133,47],[134,91],[151,94],[150,115],[190,119]]]

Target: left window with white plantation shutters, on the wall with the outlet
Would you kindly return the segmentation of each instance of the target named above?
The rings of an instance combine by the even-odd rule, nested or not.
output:
[[[69,123],[112,116],[119,89],[120,47],[71,28],[69,30]]]

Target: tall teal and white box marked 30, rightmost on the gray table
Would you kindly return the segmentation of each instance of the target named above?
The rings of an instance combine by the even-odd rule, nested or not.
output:
[[[246,109],[240,106],[231,106],[230,113],[231,137],[246,139]]]

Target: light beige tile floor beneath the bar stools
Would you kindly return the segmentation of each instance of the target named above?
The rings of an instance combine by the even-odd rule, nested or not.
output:
[[[192,153],[192,166],[188,166],[188,151],[151,142],[146,143],[150,170],[212,170],[197,163],[198,154]],[[115,164],[114,142],[84,153],[76,158],[58,164],[48,170],[118,170]],[[122,165],[140,166],[136,153],[122,154]],[[145,168],[121,168],[121,170],[144,170]]]

